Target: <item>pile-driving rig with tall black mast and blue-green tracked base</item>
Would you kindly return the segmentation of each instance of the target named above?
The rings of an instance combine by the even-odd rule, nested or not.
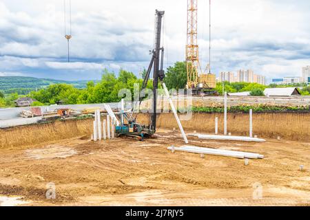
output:
[[[116,126],[115,132],[116,137],[134,137],[138,140],[143,140],[144,137],[152,137],[156,132],[156,103],[157,103],[157,89],[159,81],[163,81],[165,78],[165,72],[163,70],[163,58],[164,58],[164,48],[161,47],[161,30],[162,30],[162,22],[164,11],[156,10],[156,21],[155,21],[155,42],[154,49],[151,51],[152,58],[149,63],[149,67],[147,68],[147,72],[143,79],[143,84],[140,91],[143,91],[147,87],[147,82],[149,80],[149,76],[153,69],[153,104],[152,104],[152,113],[150,114],[150,124],[144,125],[136,122],[136,117],[134,117],[134,107],[129,112],[124,113],[121,112],[121,124]],[[140,107],[143,98],[139,98],[135,100]],[[127,121],[125,123],[125,121]]]

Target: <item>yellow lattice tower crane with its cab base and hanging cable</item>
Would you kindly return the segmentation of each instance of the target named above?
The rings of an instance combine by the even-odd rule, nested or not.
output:
[[[210,1],[210,20],[211,20],[211,0]],[[198,47],[198,0],[187,0],[187,89],[193,89],[193,93],[212,94],[216,87],[216,75],[211,74],[210,63],[207,64],[203,72],[199,62]],[[209,56],[211,61],[211,23],[210,28],[210,47]]]

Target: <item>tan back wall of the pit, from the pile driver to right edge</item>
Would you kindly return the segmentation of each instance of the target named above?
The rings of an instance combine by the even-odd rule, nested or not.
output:
[[[218,117],[218,132],[223,134],[223,113],[193,113],[185,116],[182,125],[187,133],[214,134],[215,118]],[[148,118],[141,115],[139,122],[148,123]],[[261,138],[276,139],[280,136],[285,140],[302,140],[310,142],[310,112],[279,112],[279,113],[254,113],[253,132]],[[163,113],[158,117],[158,126],[165,129],[178,128],[174,116]],[[227,128],[232,135],[249,135],[249,113],[228,113]]]

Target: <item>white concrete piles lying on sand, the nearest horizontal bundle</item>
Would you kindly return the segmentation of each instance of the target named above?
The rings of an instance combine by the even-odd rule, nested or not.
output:
[[[225,157],[236,157],[240,159],[249,158],[249,159],[263,159],[264,155],[260,155],[257,153],[247,153],[242,151],[227,151],[222,149],[214,149],[214,148],[205,148],[198,146],[180,146],[174,147],[169,146],[167,148],[169,151],[184,151],[189,153],[199,153],[199,154],[207,154],[207,155],[218,155]]]

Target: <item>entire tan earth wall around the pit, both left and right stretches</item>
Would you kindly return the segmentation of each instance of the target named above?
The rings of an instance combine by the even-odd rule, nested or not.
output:
[[[218,130],[223,133],[223,113],[193,113],[192,119],[183,121],[188,133],[214,133],[214,120],[218,117]],[[92,134],[93,119],[56,121],[48,124],[19,126],[0,129],[0,148],[24,147],[42,142],[63,140],[71,137]],[[148,124],[148,115],[138,115],[138,122]],[[262,138],[310,141],[310,113],[254,113],[254,135]],[[161,129],[178,128],[172,113],[163,113],[158,117]],[[249,114],[229,113],[228,132],[232,135],[249,135]]]

